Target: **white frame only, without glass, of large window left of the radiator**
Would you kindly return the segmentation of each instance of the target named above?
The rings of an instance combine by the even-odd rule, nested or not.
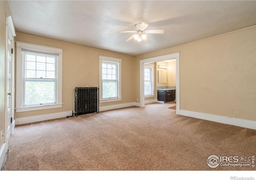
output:
[[[42,53],[54,53],[58,54],[56,60],[56,71],[57,71],[57,80],[56,80],[56,104],[44,104],[36,106],[26,106],[24,107],[24,54],[25,51],[22,49],[36,50]],[[48,46],[41,46],[36,44],[29,44],[25,42],[16,42],[16,112],[26,112],[34,110],[44,110],[52,108],[62,108],[62,51],[60,48],[52,48]]]

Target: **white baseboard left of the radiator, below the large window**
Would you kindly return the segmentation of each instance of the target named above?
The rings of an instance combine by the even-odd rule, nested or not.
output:
[[[56,118],[64,118],[67,116],[71,116],[72,111],[66,111],[66,112],[57,112],[52,114],[43,114],[39,116],[29,116],[24,118],[16,118],[16,125],[17,124],[27,124],[31,122],[39,122],[39,121],[45,121],[50,119],[56,119]]]

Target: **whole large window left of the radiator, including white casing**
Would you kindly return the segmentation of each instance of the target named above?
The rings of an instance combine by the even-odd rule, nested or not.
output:
[[[17,42],[16,112],[62,107],[62,49]]]

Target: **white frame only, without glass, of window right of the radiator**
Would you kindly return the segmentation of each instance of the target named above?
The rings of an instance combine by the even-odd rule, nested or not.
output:
[[[106,56],[99,56],[99,75],[100,75],[100,103],[102,102],[114,102],[114,101],[121,101],[122,100],[122,90],[121,90],[121,64],[122,64],[122,59],[118,59],[118,58],[112,58],[112,57],[106,57]],[[117,94],[118,94],[118,98],[104,98],[102,99],[102,62],[113,62],[113,63],[117,63]]]

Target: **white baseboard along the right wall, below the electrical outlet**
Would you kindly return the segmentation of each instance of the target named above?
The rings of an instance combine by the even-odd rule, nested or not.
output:
[[[256,130],[256,121],[251,121],[251,120],[230,118],[230,117],[205,114],[200,112],[192,112],[187,110],[180,110],[180,115]]]

